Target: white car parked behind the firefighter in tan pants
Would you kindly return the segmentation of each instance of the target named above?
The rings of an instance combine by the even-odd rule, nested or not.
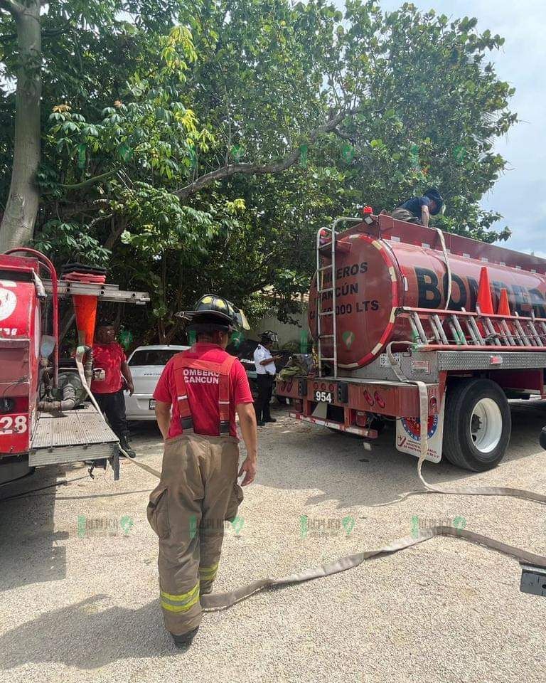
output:
[[[189,346],[158,345],[138,346],[129,356],[128,363],[133,376],[134,394],[125,392],[125,413],[127,420],[155,420],[156,402],[152,397],[156,384],[167,362],[186,351]]]

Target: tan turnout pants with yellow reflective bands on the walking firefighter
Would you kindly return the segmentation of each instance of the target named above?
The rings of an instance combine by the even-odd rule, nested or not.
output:
[[[199,596],[212,591],[225,521],[242,501],[239,447],[231,436],[167,439],[148,521],[159,537],[159,591],[166,628],[183,635],[201,620]]]

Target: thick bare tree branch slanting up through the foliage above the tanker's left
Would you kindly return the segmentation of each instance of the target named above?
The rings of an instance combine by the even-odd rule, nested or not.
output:
[[[336,116],[326,121],[326,123],[323,123],[323,125],[318,126],[314,130],[312,130],[309,133],[308,139],[302,142],[302,144],[313,144],[314,142],[316,142],[316,139],[319,137],[319,135],[332,132],[343,121],[343,119],[345,119],[347,116],[355,114],[356,111],[357,110],[353,109],[339,112],[338,114],[336,114]],[[284,159],[280,159],[278,162],[264,164],[263,166],[261,166],[260,164],[250,163],[227,164],[223,166],[221,169],[216,169],[215,171],[211,171],[210,173],[205,174],[204,176],[200,176],[200,178],[198,178],[196,181],[193,181],[193,183],[186,185],[186,187],[176,190],[175,192],[173,192],[173,194],[177,196],[179,199],[187,199],[188,197],[192,196],[193,194],[196,194],[196,192],[198,192],[200,189],[206,187],[207,185],[210,185],[214,181],[221,180],[223,178],[228,178],[229,176],[233,176],[239,173],[257,176],[282,173],[282,171],[286,171],[290,168],[290,166],[294,166],[294,164],[296,164],[296,162],[299,159],[299,155],[300,149],[299,147],[296,147],[296,149],[294,149],[294,151],[291,152],[287,157],[284,157]]]

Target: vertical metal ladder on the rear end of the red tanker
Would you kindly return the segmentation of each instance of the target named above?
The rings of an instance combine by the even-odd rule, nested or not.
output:
[[[362,218],[336,218],[332,223],[331,228],[319,228],[316,232],[316,353],[318,356],[318,370],[319,377],[325,375],[337,377],[338,376],[338,344],[337,344],[337,316],[336,316],[336,228],[338,223],[362,223]],[[329,238],[329,242],[328,242]],[[329,258],[330,263],[323,265],[323,258]],[[328,287],[323,287],[324,273],[331,271],[331,280],[327,283]],[[332,307],[327,311],[323,311],[323,294],[332,292]],[[332,318],[332,332],[331,334],[323,334],[323,317]],[[333,349],[333,356],[324,356],[322,353],[323,339],[331,339],[331,348]],[[330,366],[330,370],[326,371],[323,364]]]

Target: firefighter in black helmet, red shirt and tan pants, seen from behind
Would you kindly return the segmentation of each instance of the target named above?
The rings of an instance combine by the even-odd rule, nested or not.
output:
[[[246,486],[256,476],[257,428],[245,369],[225,351],[244,314],[205,295],[179,315],[197,341],[168,361],[154,392],[165,448],[147,514],[159,536],[165,625],[185,647],[199,628],[199,596],[212,591],[225,521],[235,519],[242,501],[237,477],[244,475]],[[235,413],[247,450],[240,468]]]

